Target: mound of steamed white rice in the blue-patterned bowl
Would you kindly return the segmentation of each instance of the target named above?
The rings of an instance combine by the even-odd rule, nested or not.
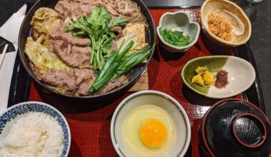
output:
[[[59,157],[63,140],[63,131],[56,119],[46,113],[30,113],[16,121],[0,141],[0,156]]]

